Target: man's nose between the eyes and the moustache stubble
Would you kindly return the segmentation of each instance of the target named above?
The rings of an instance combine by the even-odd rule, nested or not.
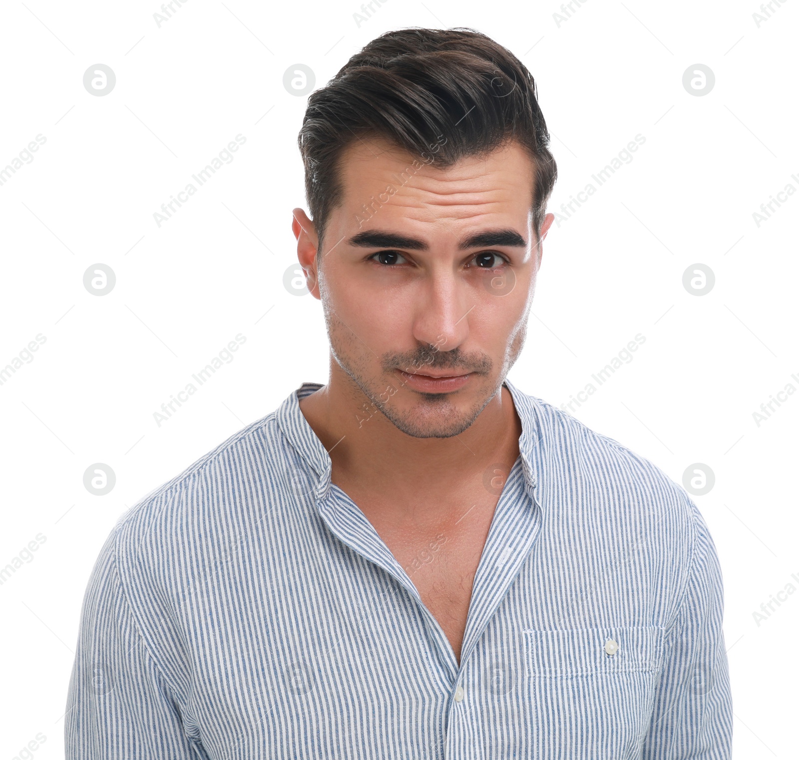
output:
[[[419,342],[450,351],[469,334],[469,312],[476,302],[468,288],[449,267],[431,272],[416,305],[413,336]]]

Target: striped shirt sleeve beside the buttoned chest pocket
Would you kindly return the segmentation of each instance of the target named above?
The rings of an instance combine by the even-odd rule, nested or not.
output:
[[[721,567],[702,513],[693,501],[690,509],[695,538],[689,578],[667,639],[642,760],[731,756],[733,705],[721,629]]]

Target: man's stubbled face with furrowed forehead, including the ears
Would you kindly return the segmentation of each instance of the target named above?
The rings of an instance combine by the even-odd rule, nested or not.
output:
[[[318,268],[312,223],[300,209],[294,223],[332,355],[371,402],[362,416],[378,409],[415,437],[462,433],[497,393],[524,343],[542,255],[534,165],[519,144],[447,169],[432,147],[412,156],[369,140],[344,152]]]

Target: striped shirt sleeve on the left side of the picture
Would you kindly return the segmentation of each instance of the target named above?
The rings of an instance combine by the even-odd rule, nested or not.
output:
[[[85,592],[64,722],[66,760],[197,760],[117,572],[112,532]],[[197,754],[195,754],[197,753]]]

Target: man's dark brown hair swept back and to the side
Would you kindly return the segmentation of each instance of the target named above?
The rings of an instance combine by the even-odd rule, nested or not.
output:
[[[364,137],[382,137],[414,155],[435,147],[439,168],[519,142],[535,165],[531,207],[539,239],[558,176],[547,124],[527,67],[485,34],[387,32],[308,97],[297,142],[320,250],[330,212],[342,200],[338,161]]]

